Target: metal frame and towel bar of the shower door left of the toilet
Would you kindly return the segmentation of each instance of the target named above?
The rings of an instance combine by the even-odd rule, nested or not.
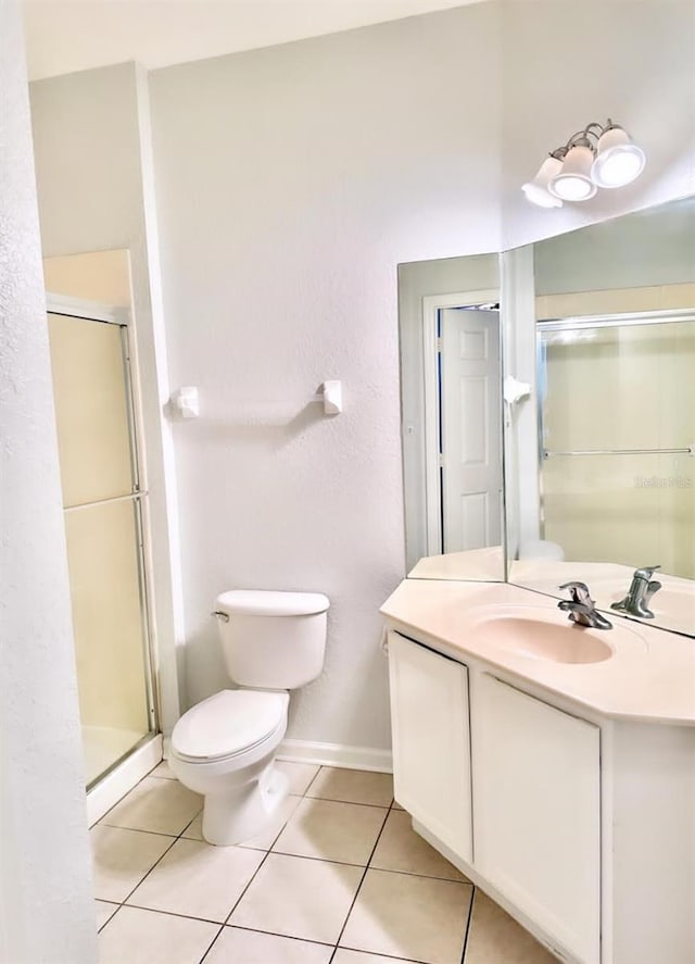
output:
[[[79,511],[86,505],[108,504],[111,502],[130,502],[134,506],[137,533],[138,575],[141,606],[142,630],[142,667],[144,673],[144,686],[147,694],[147,717],[149,731],[123,756],[118,758],[111,766],[101,773],[94,780],[87,785],[88,797],[93,790],[98,790],[102,781],[114,775],[124,763],[128,763],[134,754],[142,748],[156,741],[155,755],[162,759],[161,750],[161,712],[157,690],[156,663],[154,658],[154,623],[152,605],[152,554],[149,524],[149,506],[146,475],[146,459],[143,445],[143,420],[140,403],[137,353],[135,348],[135,333],[132,330],[131,312],[127,308],[106,305],[99,302],[85,301],[62,295],[46,295],[47,315],[62,315],[64,317],[78,318],[96,324],[115,325],[121,329],[121,346],[123,351],[123,372],[125,379],[125,396],[127,404],[128,437],[132,471],[131,492],[126,496],[117,496],[110,499],[100,499],[96,503],[85,503],[72,510]],[[149,759],[150,754],[148,754]],[[148,766],[148,769],[151,768]],[[144,775],[144,774],[142,774]],[[139,777],[138,777],[139,779]],[[137,783],[137,780],[136,780]],[[101,807],[99,807],[101,810]],[[91,821],[90,821],[91,823]]]

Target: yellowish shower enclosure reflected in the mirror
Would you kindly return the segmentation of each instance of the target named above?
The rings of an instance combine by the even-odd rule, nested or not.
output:
[[[538,324],[542,537],[695,578],[695,311]]]

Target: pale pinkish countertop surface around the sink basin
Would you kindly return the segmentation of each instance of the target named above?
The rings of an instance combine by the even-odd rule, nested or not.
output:
[[[380,612],[391,628],[454,659],[475,658],[606,716],[695,725],[695,639],[616,616],[624,633],[590,630],[614,648],[610,659],[555,663],[477,640],[473,611],[495,605],[555,611],[558,625],[567,619],[555,600],[528,589],[435,579],[404,579]]]

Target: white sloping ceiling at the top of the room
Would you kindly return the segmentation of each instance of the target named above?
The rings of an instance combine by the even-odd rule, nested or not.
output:
[[[218,57],[484,0],[24,0],[29,78]]]

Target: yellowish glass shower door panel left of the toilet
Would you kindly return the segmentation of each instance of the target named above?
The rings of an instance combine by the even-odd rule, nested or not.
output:
[[[49,336],[88,788],[156,731],[127,326]]]

